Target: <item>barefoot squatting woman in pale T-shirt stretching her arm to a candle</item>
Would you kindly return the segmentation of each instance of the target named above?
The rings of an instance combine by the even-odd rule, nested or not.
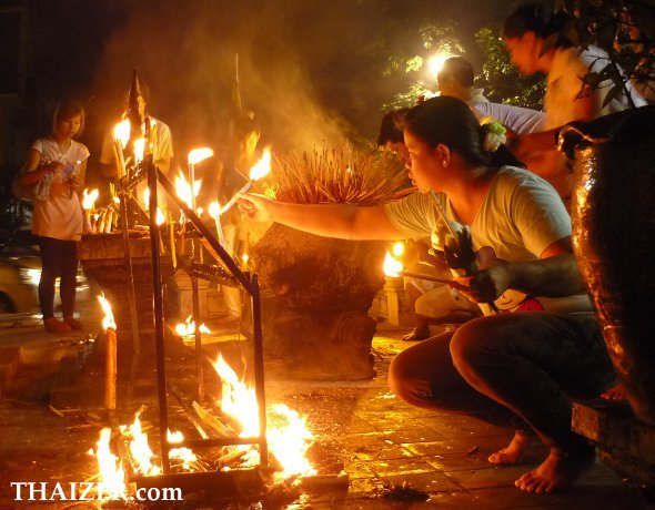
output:
[[[613,386],[615,376],[584,294],[562,201],[541,177],[493,164],[484,139],[485,130],[465,103],[435,98],[412,109],[405,125],[407,169],[419,193],[376,207],[242,195],[240,207],[254,218],[324,236],[417,238],[440,230],[429,196],[437,192],[452,225],[468,227],[474,248],[484,248],[484,271],[457,278],[458,288],[478,303],[508,289],[527,299],[513,307],[517,313],[474,319],[401,353],[391,365],[390,386],[427,409],[483,418],[494,407],[510,409],[551,448],[516,486],[550,492],[567,488],[593,460],[593,449],[571,431],[570,398],[595,397]],[[588,315],[580,314],[584,310]],[[490,460],[517,461],[525,437],[518,432]]]

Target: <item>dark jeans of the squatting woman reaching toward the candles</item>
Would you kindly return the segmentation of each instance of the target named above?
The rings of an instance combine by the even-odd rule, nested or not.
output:
[[[597,397],[616,379],[593,317],[525,312],[481,317],[404,350],[389,384],[414,406],[496,424],[502,405],[546,445],[573,449],[581,439],[571,399]]]

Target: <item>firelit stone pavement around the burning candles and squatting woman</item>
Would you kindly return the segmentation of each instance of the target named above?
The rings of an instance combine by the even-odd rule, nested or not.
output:
[[[381,325],[373,344],[377,374],[372,380],[266,379],[269,405],[284,402],[306,416],[315,436],[310,457],[319,472],[343,469],[349,475],[347,488],[319,491],[294,502],[222,501],[178,508],[653,508],[602,463],[568,493],[530,494],[514,488],[514,480],[543,458],[543,448],[535,446],[521,467],[492,467],[486,458],[507,443],[512,430],[412,408],[389,391],[386,369],[393,356],[409,346],[400,340],[407,330]],[[220,343],[206,346],[212,354],[220,349]],[[215,381],[210,375],[208,379]],[[101,411],[61,411],[18,399],[0,404],[0,508],[71,508],[61,501],[16,501],[10,482],[80,482],[95,475],[94,460],[87,451],[98,440]],[[75,507],[99,508],[91,503]]]

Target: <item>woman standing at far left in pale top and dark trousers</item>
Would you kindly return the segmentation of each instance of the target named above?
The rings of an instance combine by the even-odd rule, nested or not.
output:
[[[54,112],[52,135],[37,140],[22,169],[21,184],[34,186],[32,233],[38,236],[42,272],[39,302],[47,332],[67,333],[82,326],[73,317],[78,246],[82,234],[79,193],[83,186],[89,150],[73,141],[84,128],[84,109],[77,101]],[[54,282],[61,278],[63,320],[54,318]]]

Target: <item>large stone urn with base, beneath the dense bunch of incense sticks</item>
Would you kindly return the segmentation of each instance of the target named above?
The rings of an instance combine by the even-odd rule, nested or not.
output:
[[[273,224],[253,247],[262,285],[264,354],[288,376],[357,380],[373,376],[375,319],[385,244],[342,241]]]

